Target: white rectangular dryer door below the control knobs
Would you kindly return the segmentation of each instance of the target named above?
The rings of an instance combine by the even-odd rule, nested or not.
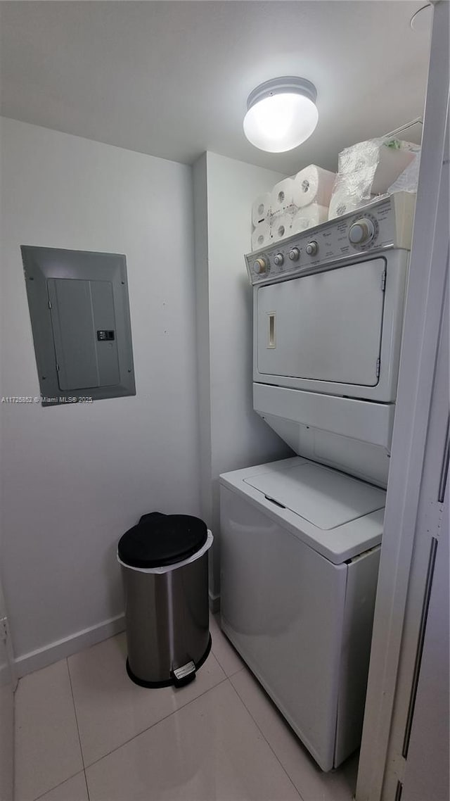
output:
[[[386,261],[378,258],[260,287],[259,374],[348,384],[348,395],[355,394],[352,385],[375,387],[385,269]]]

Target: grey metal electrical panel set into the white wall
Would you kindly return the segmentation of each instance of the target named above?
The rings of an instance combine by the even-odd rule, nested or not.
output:
[[[42,406],[135,395],[125,256],[21,250]]]

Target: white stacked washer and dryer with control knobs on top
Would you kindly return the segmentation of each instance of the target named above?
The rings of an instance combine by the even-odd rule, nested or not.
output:
[[[414,202],[246,256],[254,409],[299,455],[220,477],[221,622],[323,771],[360,744]]]

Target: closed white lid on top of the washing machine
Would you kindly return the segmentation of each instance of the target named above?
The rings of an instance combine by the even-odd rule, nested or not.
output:
[[[383,509],[386,502],[382,489],[314,462],[267,467],[243,481],[319,529],[335,529]]]

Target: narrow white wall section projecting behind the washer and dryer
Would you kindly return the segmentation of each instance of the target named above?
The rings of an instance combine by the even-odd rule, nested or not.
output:
[[[291,456],[253,411],[252,290],[243,259],[251,250],[251,204],[283,177],[209,152],[194,165],[202,511],[215,533],[213,598],[219,594],[219,474]]]

